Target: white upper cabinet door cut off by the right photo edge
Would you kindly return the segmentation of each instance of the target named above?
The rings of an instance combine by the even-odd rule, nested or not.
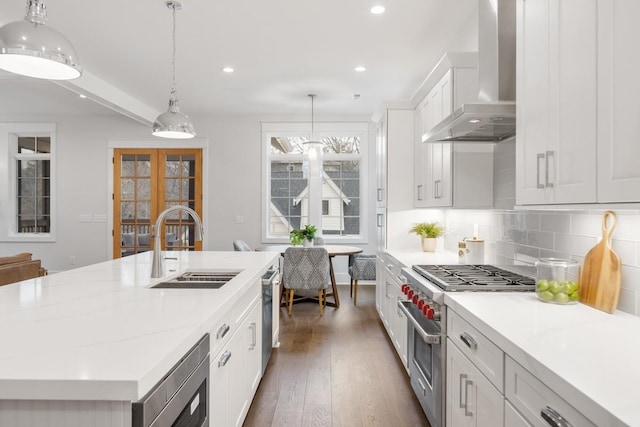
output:
[[[640,201],[640,2],[598,2],[598,201]]]

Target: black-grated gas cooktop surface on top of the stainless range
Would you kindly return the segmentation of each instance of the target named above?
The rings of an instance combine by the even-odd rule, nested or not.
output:
[[[413,270],[445,291],[533,291],[535,279],[493,265],[414,265]]]

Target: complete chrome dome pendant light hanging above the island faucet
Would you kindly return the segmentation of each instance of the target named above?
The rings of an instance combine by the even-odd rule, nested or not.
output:
[[[179,1],[168,1],[167,7],[173,12],[173,80],[171,95],[169,96],[169,110],[160,114],[153,123],[153,135],[162,138],[187,139],[196,136],[193,123],[186,114],[180,111],[178,105],[178,91],[176,90],[176,10],[182,9]]]

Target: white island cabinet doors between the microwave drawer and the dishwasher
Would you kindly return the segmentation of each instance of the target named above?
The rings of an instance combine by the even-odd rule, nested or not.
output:
[[[235,330],[210,359],[210,425],[216,427],[242,425],[262,376],[262,298],[256,293],[238,304],[230,314]]]

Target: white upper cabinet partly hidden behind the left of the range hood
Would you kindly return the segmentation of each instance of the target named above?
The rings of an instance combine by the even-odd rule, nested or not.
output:
[[[422,142],[423,135],[456,108],[478,101],[477,55],[445,55],[421,89],[425,87],[428,92],[415,109],[414,206],[492,207],[491,145]]]

